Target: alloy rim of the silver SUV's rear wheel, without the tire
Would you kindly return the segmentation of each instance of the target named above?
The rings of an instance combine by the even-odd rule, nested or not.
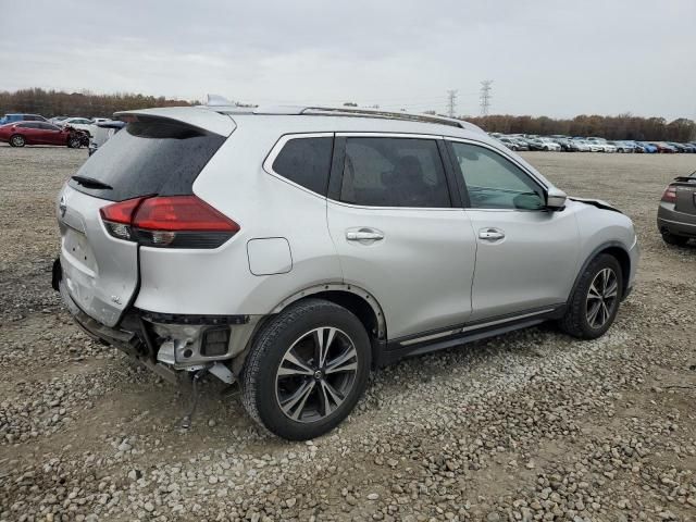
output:
[[[283,356],[275,395],[283,413],[296,422],[321,421],[346,400],[358,374],[353,341],[333,326],[314,328]]]

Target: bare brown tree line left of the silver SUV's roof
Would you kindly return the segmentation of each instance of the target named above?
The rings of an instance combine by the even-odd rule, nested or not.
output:
[[[145,96],[129,92],[97,95],[87,90],[64,92],[39,88],[14,92],[0,91],[0,117],[10,112],[25,112],[53,116],[110,117],[114,112],[151,107],[177,107],[199,104],[198,101],[172,100],[163,96]]]

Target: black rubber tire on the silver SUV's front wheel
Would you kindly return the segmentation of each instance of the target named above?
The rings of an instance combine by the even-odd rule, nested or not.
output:
[[[616,281],[616,296],[605,306],[605,299],[597,299],[592,297],[591,288],[595,288],[593,284],[596,284],[597,278],[600,277],[602,271],[609,270],[613,273]],[[606,272],[605,272],[606,273]],[[617,258],[608,253],[601,253],[597,256],[583,270],[580,276],[580,281],[573,290],[573,294],[568,302],[568,310],[566,314],[558,321],[559,327],[569,335],[581,339],[595,339],[604,335],[617,316],[619,311],[619,304],[623,296],[623,274],[621,265]],[[594,307],[600,302],[600,312],[605,314],[606,320],[601,324],[591,324],[589,316]],[[601,308],[604,306],[604,308]],[[599,313],[595,315],[595,319]]]

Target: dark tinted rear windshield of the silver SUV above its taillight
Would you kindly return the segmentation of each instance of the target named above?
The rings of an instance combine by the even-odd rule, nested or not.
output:
[[[111,201],[192,194],[196,177],[225,139],[181,122],[139,117],[99,147],[77,171],[76,176],[112,188],[87,188],[74,179],[69,185]]]

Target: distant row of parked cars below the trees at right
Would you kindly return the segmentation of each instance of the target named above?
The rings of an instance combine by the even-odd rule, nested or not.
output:
[[[545,150],[549,152],[638,152],[638,153],[696,153],[696,141],[634,141],[630,139],[609,141],[599,137],[582,136],[532,136],[522,134],[490,133],[490,136],[511,150]]]

